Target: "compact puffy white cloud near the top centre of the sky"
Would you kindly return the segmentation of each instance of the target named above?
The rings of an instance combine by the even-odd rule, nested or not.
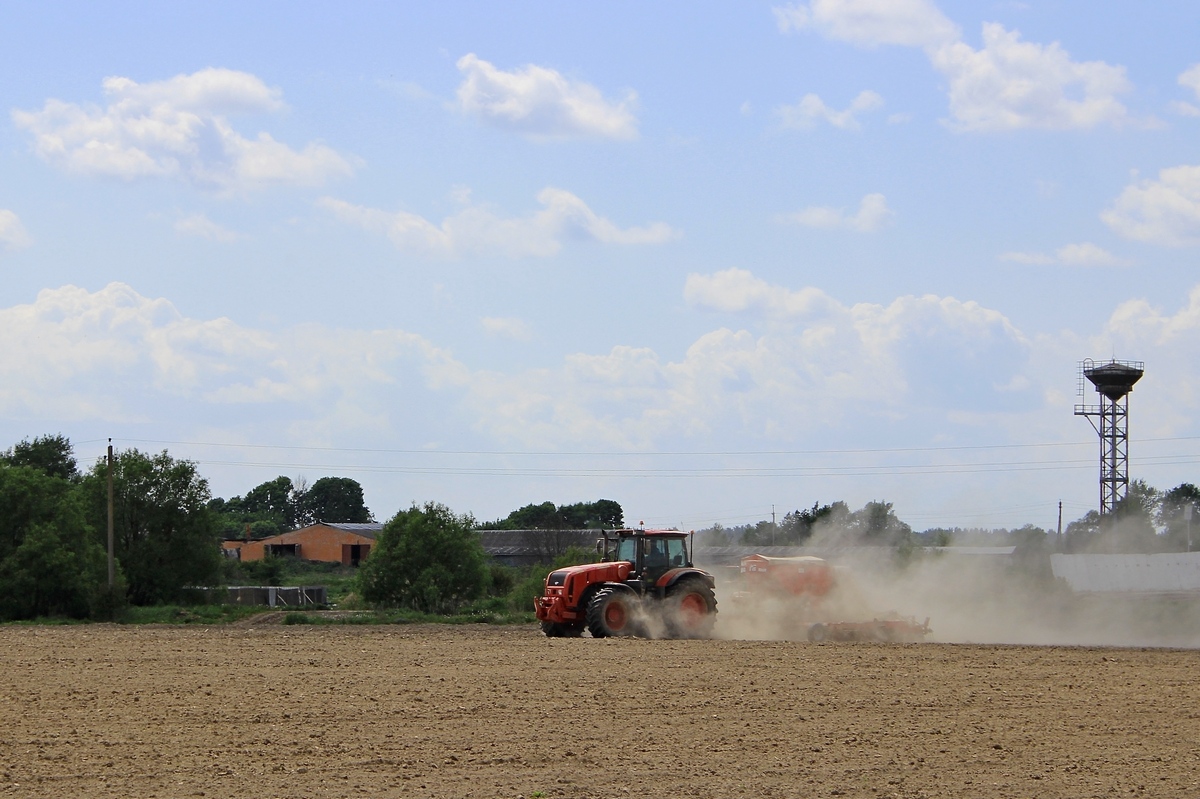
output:
[[[458,59],[457,66],[463,74],[460,108],[491,125],[538,139],[637,138],[632,91],[610,102],[595,86],[554,70],[530,64],[505,72],[474,53]]]

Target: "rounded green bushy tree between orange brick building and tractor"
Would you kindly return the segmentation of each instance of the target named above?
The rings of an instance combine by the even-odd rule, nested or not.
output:
[[[426,613],[456,611],[482,596],[488,581],[475,519],[437,503],[396,513],[359,571],[367,602]]]

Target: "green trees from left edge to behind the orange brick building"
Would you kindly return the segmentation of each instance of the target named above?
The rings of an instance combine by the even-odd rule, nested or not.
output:
[[[186,585],[221,581],[222,537],[372,518],[361,486],[347,477],[312,486],[277,477],[224,500],[212,497],[194,463],[166,451],[118,451],[112,471],[110,587],[104,458],[80,470],[61,434],[0,452],[0,620],[112,618],[126,603],[174,602]]]

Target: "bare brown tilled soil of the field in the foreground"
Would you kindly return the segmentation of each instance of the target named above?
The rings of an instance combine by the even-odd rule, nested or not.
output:
[[[0,797],[1196,797],[1200,653],[0,627]]]

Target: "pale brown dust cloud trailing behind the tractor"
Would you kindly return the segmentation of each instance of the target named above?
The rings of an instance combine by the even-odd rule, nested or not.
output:
[[[863,546],[840,530],[815,535],[805,554],[834,569],[824,597],[749,590],[737,563],[710,565],[720,613],[715,636],[803,641],[818,621],[929,619],[937,643],[1200,648],[1200,597],[1080,595],[1050,571],[1050,553],[958,554]]]

